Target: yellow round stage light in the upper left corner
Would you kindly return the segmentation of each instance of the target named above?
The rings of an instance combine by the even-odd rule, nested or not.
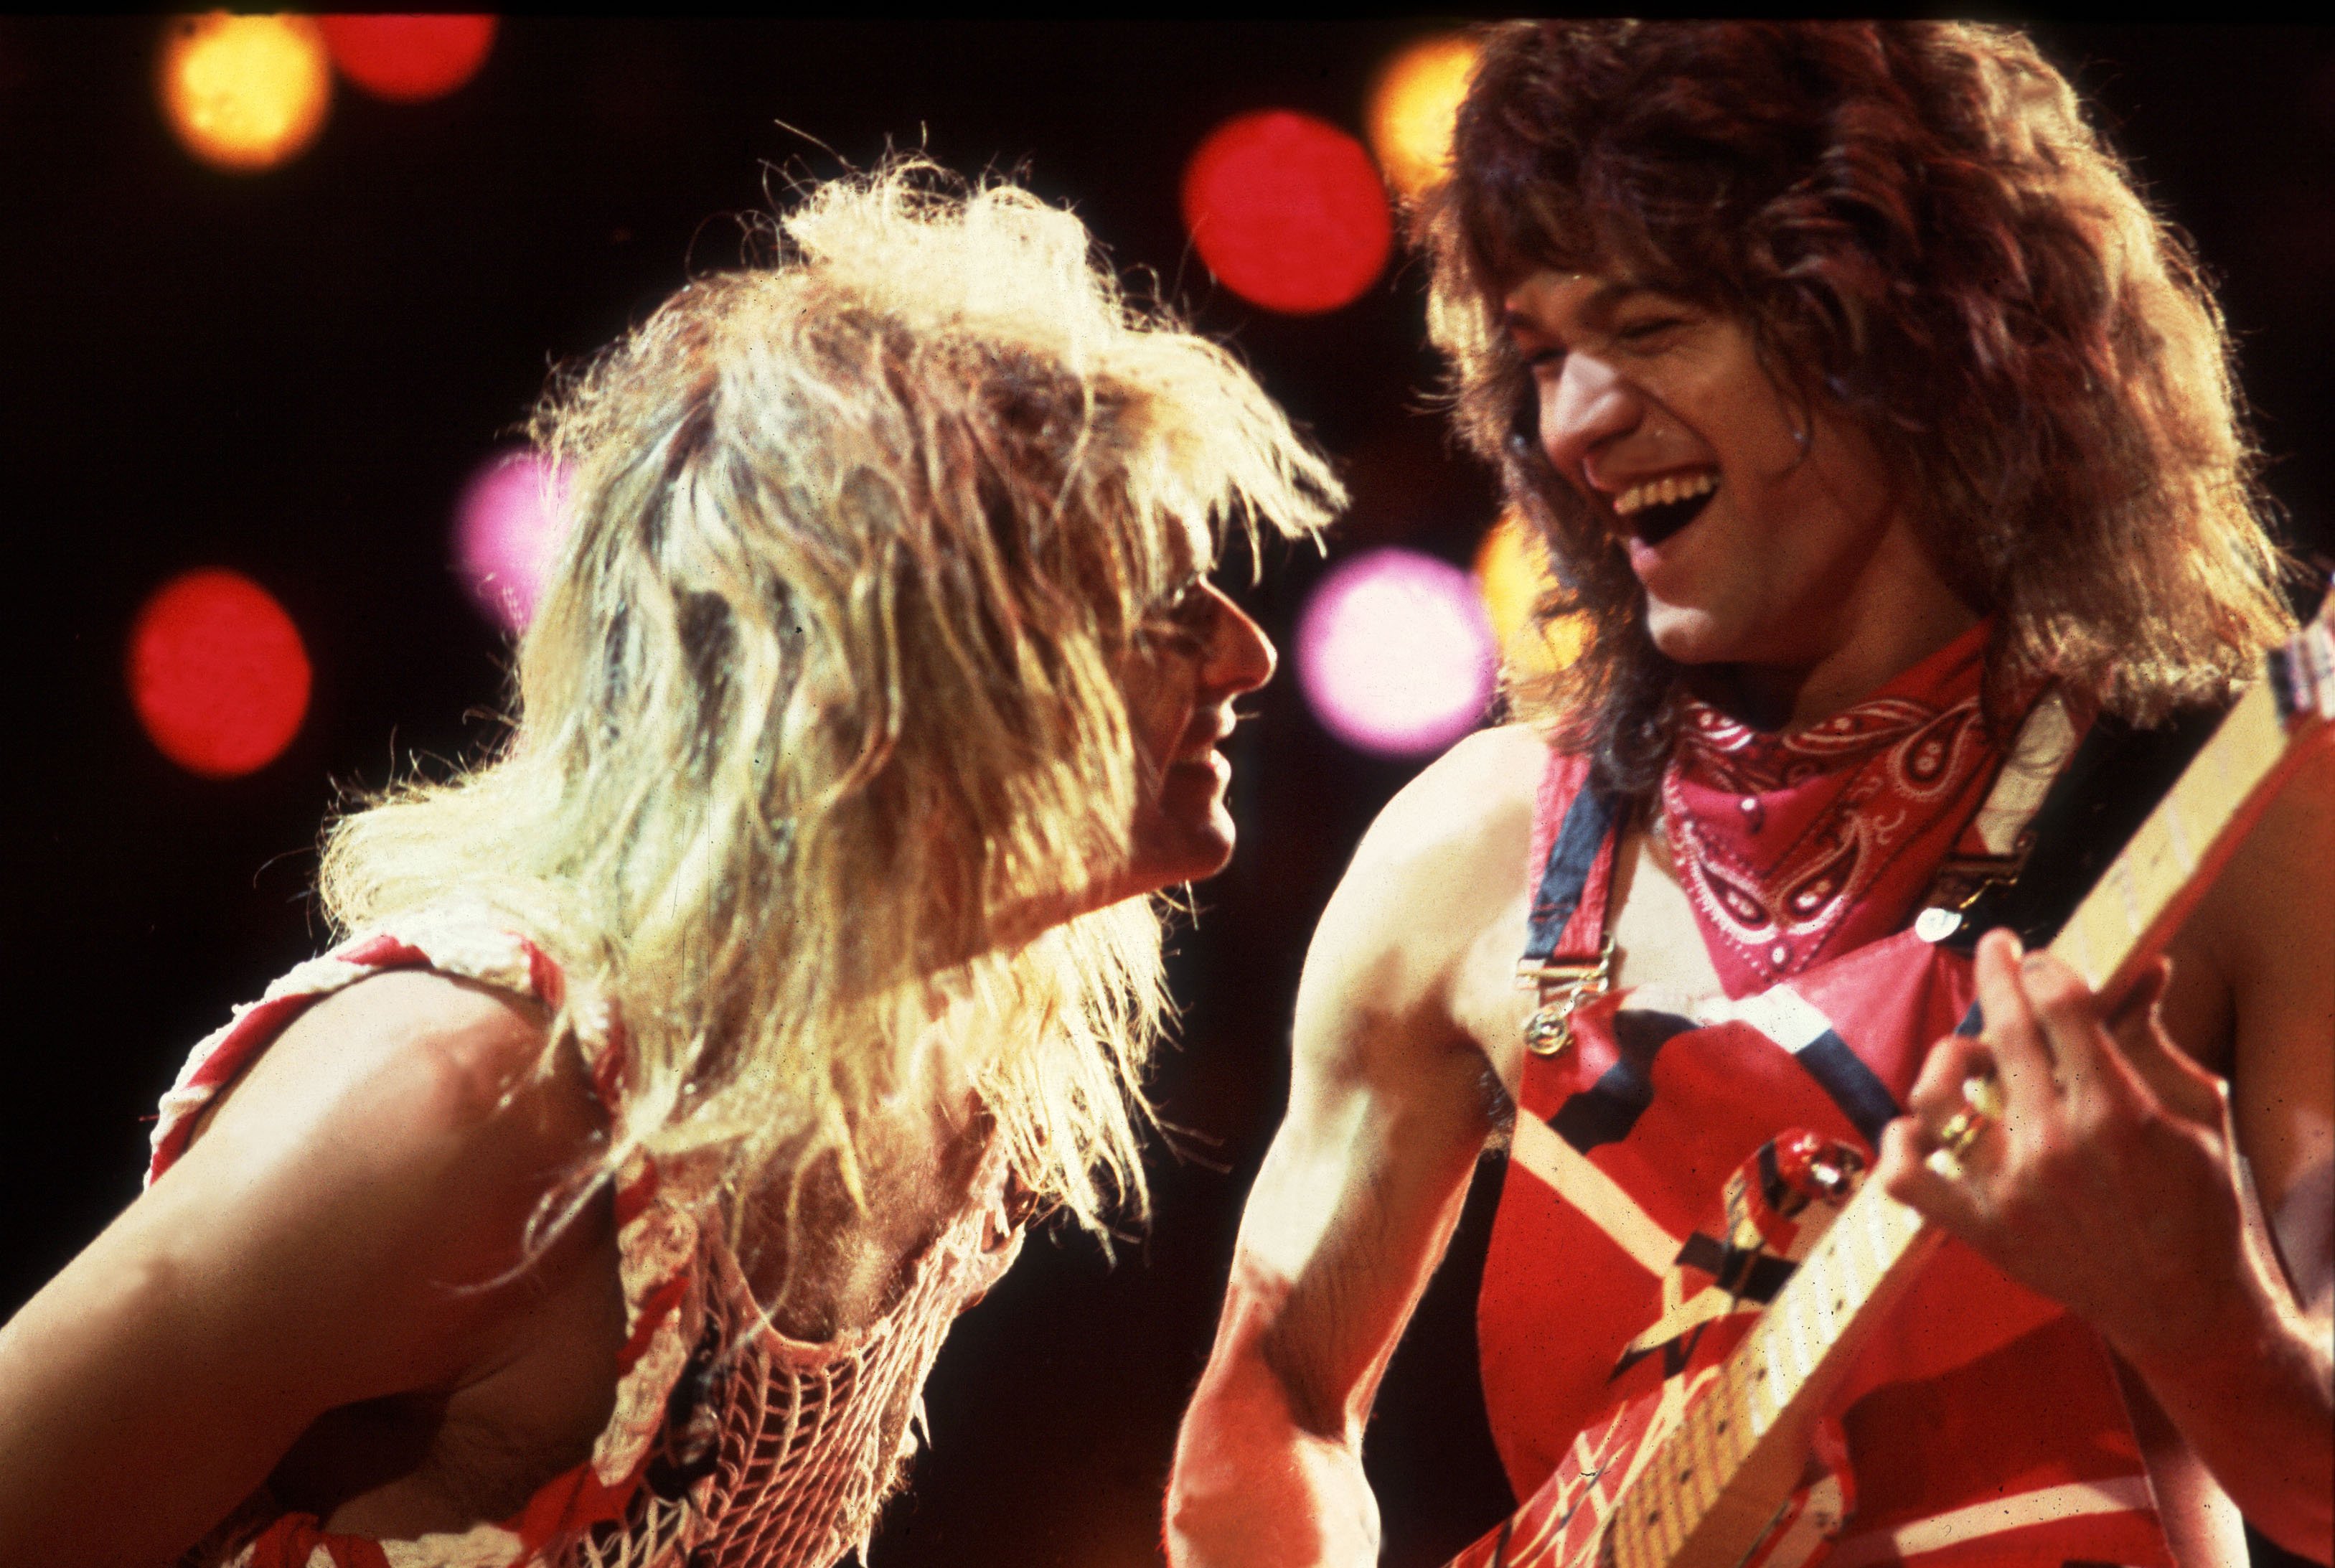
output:
[[[161,107],[215,168],[273,168],[315,140],[332,56],[308,16],[177,16],[161,54]]]

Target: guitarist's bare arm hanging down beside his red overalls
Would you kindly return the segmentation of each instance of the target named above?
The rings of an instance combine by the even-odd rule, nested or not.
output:
[[[1179,1566],[1378,1561],[1361,1430],[1492,1129],[1452,984],[1522,881],[1536,757],[1529,738],[1492,734],[1441,759],[1387,806],[1322,914],[1289,1117],[1177,1439]]]

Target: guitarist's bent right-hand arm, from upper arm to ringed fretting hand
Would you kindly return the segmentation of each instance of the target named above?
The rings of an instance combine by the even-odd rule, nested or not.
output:
[[[2321,750],[2183,932],[2165,1005],[2097,998],[2008,942],[1980,951],[2006,1124],[1966,1182],[1919,1166],[1898,1122],[1882,1180],[2006,1271],[2090,1318],[2181,1437],[2281,1545],[2335,1554],[2335,750]],[[2200,970],[2209,972],[2200,977]],[[2200,984],[2218,1010],[2181,1002]],[[2202,1040],[2221,1014],[2225,1040]],[[2228,1096],[2195,1056],[2230,1068]],[[1931,1054],[1915,1108],[1959,1101],[1966,1045]],[[2239,1159],[2244,1157],[2244,1159]],[[2277,1250],[2246,1199],[2260,1194]]]

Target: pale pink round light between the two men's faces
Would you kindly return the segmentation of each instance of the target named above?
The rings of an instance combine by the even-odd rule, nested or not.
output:
[[[1298,685],[1322,727],[1359,750],[1450,745],[1483,717],[1492,673],[1473,580],[1410,549],[1331,568],[1298,617]]]

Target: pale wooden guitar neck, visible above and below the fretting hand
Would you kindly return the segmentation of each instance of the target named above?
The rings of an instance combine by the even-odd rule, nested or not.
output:
[[[2050,951],[2118,1005],[2302,764],[2300,736],[2323,731],[2330,713],[2335,638],[2323,610],[2270,657],[2270,680],[2239,699]],[[1609,1533],[1616,1568],[1742,1563],[1798,1484],[1810,1423],[1938,1241],[1875,1182],[1859,1187],[1623,1489]]]

